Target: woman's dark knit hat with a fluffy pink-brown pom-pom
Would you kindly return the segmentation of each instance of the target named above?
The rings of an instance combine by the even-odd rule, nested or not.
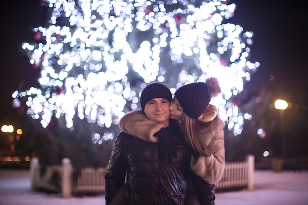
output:
[[[221,92],[216,78],[208,78],[206,83],[191,83],[182,86],[174,96],[181,104],[185,114],[193,119],[200,117],[212,97]]]

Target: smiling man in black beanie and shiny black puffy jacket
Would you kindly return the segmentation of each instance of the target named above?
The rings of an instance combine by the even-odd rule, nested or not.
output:
[[[174,159],[166,161],[158,157],[161,152],[158,143],[120,132],[105,175],[106,205],[111,204],[123,187],[126,173],[127,205],[184,205],[188,177],[192,174],[189,169],[190,154],[178,124],[169,119],[171,100],[167,87],[153,83],[142,91],[140,104],[146,117],[167,126],[157,133],[158,141],[171,139],[176,151]],[[202,194],[208,192],[208,184],[204,184],[198,176],[192,176],[191,180],[197,187],[199,199],[203,200]]]

